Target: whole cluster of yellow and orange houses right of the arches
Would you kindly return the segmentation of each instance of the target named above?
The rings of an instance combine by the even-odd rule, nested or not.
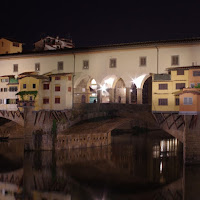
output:
[[[200,112],[200,66],[168,68],[168,74],[154,74],[152,111]]]

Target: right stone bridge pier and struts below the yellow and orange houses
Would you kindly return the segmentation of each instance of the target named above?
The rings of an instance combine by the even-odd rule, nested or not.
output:
[[[154,113],[159,127],[183,142],[184,162],[200,163],[200,115]]]

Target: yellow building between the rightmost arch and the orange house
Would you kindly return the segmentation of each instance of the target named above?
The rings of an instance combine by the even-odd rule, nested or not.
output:
[[[168,74],[154,74],[152,79],[152,111],[179,112],[177,92],[187,88],[188,68],[168,68]]]

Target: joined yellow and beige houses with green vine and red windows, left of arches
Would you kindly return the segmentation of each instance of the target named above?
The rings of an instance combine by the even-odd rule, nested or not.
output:
[[[38,110],[72,108],[72,75],[69,73],[20,74],[19,109],[34,106]]]

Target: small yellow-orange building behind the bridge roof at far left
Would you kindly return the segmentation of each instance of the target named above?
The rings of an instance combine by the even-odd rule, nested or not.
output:
[[[21,53],[22,43],[10,38],[0,38],[0,54]]]

